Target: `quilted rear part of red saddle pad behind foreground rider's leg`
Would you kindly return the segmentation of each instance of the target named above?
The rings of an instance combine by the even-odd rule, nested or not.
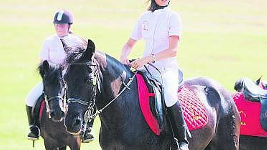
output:
[[[190,131],[207,125],[207,111],[196,93],[191,90],[190,87],[184,85],[178,91],[178,101],[182,106],[184,120]]]

